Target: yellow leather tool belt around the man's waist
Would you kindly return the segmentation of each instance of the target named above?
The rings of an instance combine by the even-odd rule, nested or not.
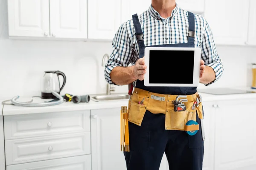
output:
[[[188,102],[184,102],[186,111],[175,112],[172,101],[174,101],[177,96],[178,95],[151,93],[149,91],[135,88],[128,103],[129,122],[140,126],[145,112],[148,110],[154,114],[166,114],[166,130],[198,130],[199,125],[186,125],[186,122],[189,120],[196,121],[196,114],[198,114],[199,119],[203,119],[203,108],[201,103],[199,103],[194,110],[192,109],[194,102],[196,102],[196,98],[199,97],[198,93],[186,95],[188,100]],[[143,104],[140,104],[143,99]]]

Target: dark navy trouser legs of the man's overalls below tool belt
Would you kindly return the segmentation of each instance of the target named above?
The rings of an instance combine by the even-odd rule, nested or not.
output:
[[[141,126],[129,122],[130,152],[124,152],[127,170],[159,170],[163,153],[170,170],[202,170],[204,141],[199,130],[165,130],[165,114],[146,111]]]

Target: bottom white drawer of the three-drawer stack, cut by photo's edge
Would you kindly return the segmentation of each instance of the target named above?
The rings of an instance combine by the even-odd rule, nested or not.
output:
[[[91,170],[91,155],[9,165],[6,170]]]

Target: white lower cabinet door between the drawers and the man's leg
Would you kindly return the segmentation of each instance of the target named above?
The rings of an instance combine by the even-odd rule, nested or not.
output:
[[[126,170],[120,151],[120,108],[91,111],[93,170]]]

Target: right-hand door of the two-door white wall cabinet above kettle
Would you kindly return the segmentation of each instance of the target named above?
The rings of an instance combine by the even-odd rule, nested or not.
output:
[[[51,36],[87,38],[87,0],[50,0]]]

